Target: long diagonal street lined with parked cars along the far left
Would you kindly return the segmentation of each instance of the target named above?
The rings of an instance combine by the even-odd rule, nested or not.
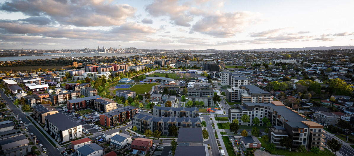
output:
[[[2,92],[1,89],[0,89],[0,94],[1,94],[1,98],[8,102],[8,107],[11,110],[13,110],[12,113],[17,114],[18,118],[21,118],[24,123],[28,124],[27,125],[29,127],[28,132],[34,133],[34,135],[37,136],[36,139],[39,140],[39,144],[43,145],[43,147],[41,148],[47,149],[48,156],[60,155],[60,151],[64,150],[64,148],[59,148],[59,149],[54,148],[54,146],[49,141],[47,141],[47,139],[42,135],[42,133],[29,121],[29,119],[26,117],[26,114],[21,112],[21,110],[19,110],[19,108],[17,108],[16,105],[12,103],[12,101],[4,94],[4,92]],[[41,148],[38,145],[37,148],[41,150]]]

